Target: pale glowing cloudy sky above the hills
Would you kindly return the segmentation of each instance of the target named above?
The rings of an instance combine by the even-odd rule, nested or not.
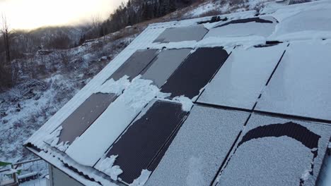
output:
[[[125,0],[0,0],[0,16],[11,29],[77,25],[92,18],[108,18]],[[0,20],[1,23],[1,20]]]

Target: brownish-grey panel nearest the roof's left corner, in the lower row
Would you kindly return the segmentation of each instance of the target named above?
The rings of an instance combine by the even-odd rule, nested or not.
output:
[[[64,120],[59,142],[73,142],[117,98],[115,94],[92,94],[74,113]]]

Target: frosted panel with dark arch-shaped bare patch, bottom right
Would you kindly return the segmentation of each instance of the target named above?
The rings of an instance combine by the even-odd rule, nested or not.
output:
[[[315,185],[331,126],[253,114],[218,185]]]

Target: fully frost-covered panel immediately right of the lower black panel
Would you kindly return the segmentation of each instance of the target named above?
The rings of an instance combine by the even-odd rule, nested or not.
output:
[[[194,106],[146,185],[210,185],[248,116]]]

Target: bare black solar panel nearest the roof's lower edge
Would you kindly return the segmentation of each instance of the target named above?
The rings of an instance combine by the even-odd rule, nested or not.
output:
[[[149,168],[185,115],[180,104],[156,101],[129,127],[107,154],[118,155],[115,165],[122,169],[120,178],[124,182],[133,182],[143,169]]]

